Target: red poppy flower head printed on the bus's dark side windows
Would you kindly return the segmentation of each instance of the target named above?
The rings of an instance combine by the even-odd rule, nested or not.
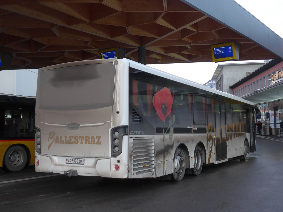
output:
[[[164,122],[165,118],[171,113],[173,104],[173,97],[170,93],[170,90],[164,87],[154,94],[152,98],[152,104],[159,118],[162,122]]]

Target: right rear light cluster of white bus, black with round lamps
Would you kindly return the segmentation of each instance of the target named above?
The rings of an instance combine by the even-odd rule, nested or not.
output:
[[[128,126],[115,127],[111,131],[111,157],[117,157],[122,152],[122,139],[128,135]]]

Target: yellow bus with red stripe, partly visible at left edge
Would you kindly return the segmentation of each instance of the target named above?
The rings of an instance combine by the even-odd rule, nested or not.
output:
[[[35,164],[35,97],[0,94],[0,168]]]

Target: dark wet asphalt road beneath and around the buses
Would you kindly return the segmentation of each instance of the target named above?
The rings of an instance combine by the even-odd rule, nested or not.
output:
[[[0,174],[0,211],[283,211],[283,142],[257,137],[246,161],[204,166],[181,182]],[[274,138],[274,137],[273,137]]]

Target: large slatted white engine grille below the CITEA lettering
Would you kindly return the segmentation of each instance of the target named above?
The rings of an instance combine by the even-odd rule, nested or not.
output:
[[[154,172],[154,141],[153,139],[133,140],[133,171],[143,177],[152,176]]]

